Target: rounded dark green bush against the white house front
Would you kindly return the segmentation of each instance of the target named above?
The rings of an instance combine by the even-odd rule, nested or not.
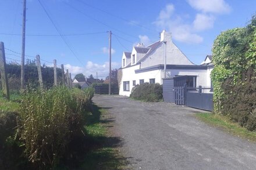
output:
[[[131,89],[131,98],[145,102],[159,102],[163,99],[163,87],[160,84],[148,84],[148,82],[136,85]]]

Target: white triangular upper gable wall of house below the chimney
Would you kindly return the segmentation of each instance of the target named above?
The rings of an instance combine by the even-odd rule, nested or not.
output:
[[[147,59],[141,61],[141,68],[163,64],[163,52],[164,45],[162,44],[154,52],[150,53]],[[166,43],[166,64],[194,65],[171,41]]]

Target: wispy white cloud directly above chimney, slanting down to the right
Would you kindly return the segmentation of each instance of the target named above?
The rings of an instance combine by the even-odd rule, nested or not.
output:
[[[201,43],[203,38],[193,31],[191,24],[185,24],[181,16],[174,16],[175,7],[172,4],[166,5],[159,13],[154,24],[167,31],[172,32],[173,39],[186,43]]]

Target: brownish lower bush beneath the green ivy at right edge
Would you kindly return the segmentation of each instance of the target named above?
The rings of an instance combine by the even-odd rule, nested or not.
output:
[[[222,113],[249,131],[256,131],[256,81],[232,84],[227,79],[222,85],[225,99]]]

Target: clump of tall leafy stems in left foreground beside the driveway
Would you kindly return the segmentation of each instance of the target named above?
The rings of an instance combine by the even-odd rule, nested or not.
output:
[[[23,93],[18,130],[35,168],[58,164],[70,140],[82,133],[83,113],[92,97],[93,89],[78,92],[65,86]]]

